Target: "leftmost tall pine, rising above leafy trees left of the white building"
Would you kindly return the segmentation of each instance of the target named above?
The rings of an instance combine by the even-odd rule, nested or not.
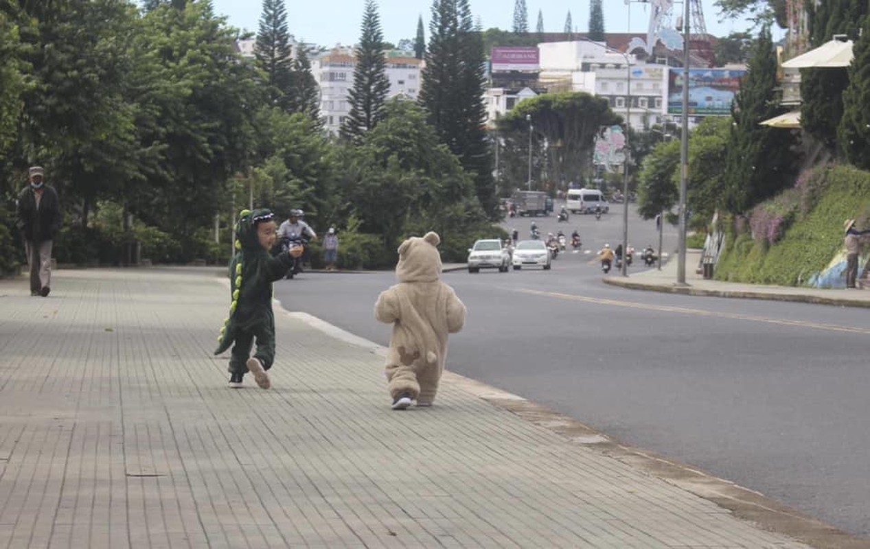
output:
[[[284,110],[291,109],[293,87],[293,60],[290,32],[287,30],[287,11],[284,0],[263,0],[254,57],[258,68],[268,77],[271,100]]]

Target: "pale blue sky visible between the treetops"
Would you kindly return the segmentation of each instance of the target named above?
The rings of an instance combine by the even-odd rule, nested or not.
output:
[[[499,27],[510,30],[513,21],[514,0],[471,0],[475,19],[482,20],[484,29]],[[720,21],[713,0],[701,1],[707,32],[724,37],[733,31],[746,30],[746,21]],[[228,17],[228,23],[239,29],[256,32],[259,26],[262,3],[258,0],[212,0],[218,14]],[[322,46],[335,44],[351,45],[358,42],[359,25],[363,18],[365,0],[286,0],[287,22],[291,34],[298,40]],[[529,30],[538,24],[538,10],[544,16],[544,30],[562,32],[565,19],[571,10],[572,23],[576,30],[586,32],[589,21],[589,0],[525,0],[529,12]],[[607,32],[629,30],[629,6],[624,0],[604,0],[604,20]],[[646,32],[650,7],[633,2],[631,6],[631,31]],[[380,0],[378,12],[384,39],[393,44],[402,38],[413,38],[417,33],[417,19],[423,16],[426,40],[429,39],[429,13],[432,2],[423,0]],[[674,3],[674,10],[682,10]]]

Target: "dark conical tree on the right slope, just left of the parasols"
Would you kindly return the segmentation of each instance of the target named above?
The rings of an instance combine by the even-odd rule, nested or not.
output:
[[[794,144],[791,131],[760,122],[786,110],[778,104],[777,59],[770,28],[753,46],[746,77],[732,106],[726,175],[728,210],[740,213],[772,197],[791,182]]]

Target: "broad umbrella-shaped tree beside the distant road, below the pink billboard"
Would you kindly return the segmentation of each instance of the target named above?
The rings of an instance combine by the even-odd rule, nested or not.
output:
[[[531,119],[527,121],[526,115]],[[585,92],[547,93],[521,101],[499,119],[499,135],[505,140],[502,171],[506,178],[505,191],[527,178],[530,123],[533,127],[532,170],[546,163],[552,179],[562,183],[590,171],[595,137],[603,126],[620,121],[606,98]],[[544,138],[550,144],[548,151],[539,148]],[[544,154],[549,156],[545,159]]]

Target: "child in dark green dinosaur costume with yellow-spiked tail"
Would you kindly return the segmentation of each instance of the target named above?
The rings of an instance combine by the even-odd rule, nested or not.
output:
[[[218,337],[220,354],[232,346],[230,386],[242,386],[246,372],[263,389],[271,386],[266,373],[275,360],[275,316],[272,314],[272,282],[284,277],[292,258],[302,250],[291,248],[288,253],[272,257],[275,244],[275,216],[269,210],[243,210],[236,223],[238,252],[230,262],[230,317],[224,320]],[[257,352],[251,348],[257,338]]]

